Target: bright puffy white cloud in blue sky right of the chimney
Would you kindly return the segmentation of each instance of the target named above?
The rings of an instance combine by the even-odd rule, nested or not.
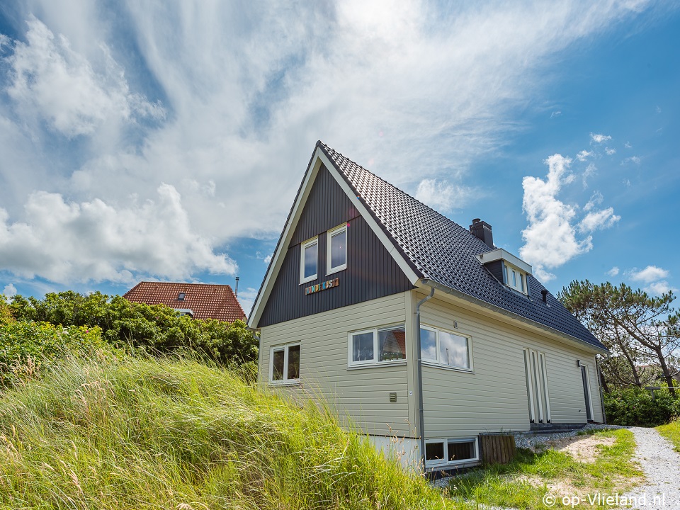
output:
[[[545,181],[532,176],[526,176],[522,181],[522,206],[528,225],[522,231],[524,245],[519,249],[519,254],[534,266],[536,276],[545,281],[555,278],[549,269],[560,267],[593,247],[591,235],[577,239],[577,227],[574,226],[577,208],[557,198],[562,186],[570,181],[568,172],[571,163],[570,158],[553,154],[545,160],[545,164],[548,164]],[[596,193],[591,198],[589,209],[594,207],[598,195]],[[592,232],[597,228],[611,227],[616,221],[618,216],[613,214],[613,208],[608,208],[589,212],[578,223],[578,228],[581,232]]]

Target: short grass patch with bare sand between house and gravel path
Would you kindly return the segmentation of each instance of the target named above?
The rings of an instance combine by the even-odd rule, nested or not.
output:
[[[635,451],[633,433],[620,429],[593,435],[616,438],[611,446],[598,447],[599,455],[593,463],[579,462],[568,453],[552,449],[540,453],[519,449],[509,464],[486,466],[455,478],[451,495],[463,509],[477,509],[480,505],[548,509],[562,507],[565,496],[622,494],[639,483],[642,472],[631,460]],[[544,499],[547,494],[556,499]],[[587,506],[586,501],[582,504]]]

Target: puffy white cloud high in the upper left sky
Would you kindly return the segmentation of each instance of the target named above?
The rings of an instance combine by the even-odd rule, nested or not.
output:
[[[55,36],[33,16],[26,39],[16,41],[7,59],[12,77],[7,94],[25,118],[42,118],[50,128],[75,137],[134,115],[162,116],[161,108],[130,93],[123,69],[106,46],[101,46],[103,68],[96,72],[64,35]]]

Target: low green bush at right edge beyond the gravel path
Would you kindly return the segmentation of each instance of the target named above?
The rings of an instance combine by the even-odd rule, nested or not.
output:
[[[668,390],[649,390],[638,387],[614,390],[604,395],[607,422],[624,426],[657,426],[667,424],[680,414],[680,400]]]

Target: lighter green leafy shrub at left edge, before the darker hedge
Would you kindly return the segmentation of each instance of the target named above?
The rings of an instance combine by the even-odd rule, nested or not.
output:
[[[98,327],[67,328],[49,322],[8,322],[0,325],[0,382],[17,375],[36,375],[44,363],[74,353],[104,348]]]

